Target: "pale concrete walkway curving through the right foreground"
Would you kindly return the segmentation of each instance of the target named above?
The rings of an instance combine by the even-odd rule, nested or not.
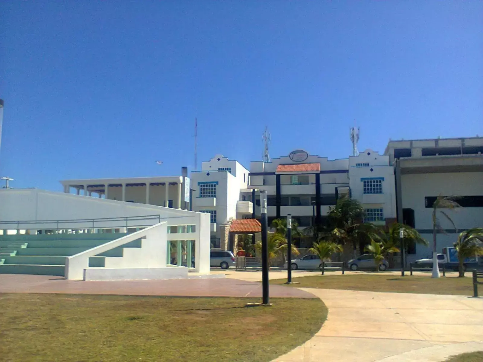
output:
[[[302,290],[324,301],[327,321],[312,339],[276,362],[443,361],[465,348],[483,349],[483,344],[462,344],[483,340],[481,298]],[[437,359],[424,359],[431,355]]]

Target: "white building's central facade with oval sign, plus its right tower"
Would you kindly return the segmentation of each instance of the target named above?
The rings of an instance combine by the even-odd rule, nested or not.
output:
[[[249,188],[267,191],[269,223],[287,214],[301,227],[323,222],[347,193],[363,204],[370,221],[396,217],[393,168],[388,156],[372,150],[336,160],[296,150],[269,163],[254,161]]]

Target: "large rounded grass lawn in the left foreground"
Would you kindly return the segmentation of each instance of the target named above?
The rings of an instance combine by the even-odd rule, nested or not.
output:
[[[249,302],[260,300],[0,294],[0,360],[270,361],[327,318],[320,299]]]

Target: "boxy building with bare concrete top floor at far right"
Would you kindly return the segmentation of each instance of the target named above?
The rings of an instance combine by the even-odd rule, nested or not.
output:
[[[432,252],[432,205],[437,196],[462,196],[463,208],[444,210],[454,220],[457,231],[483,226],[483,138],[413,139],[389,141],[385,155],[394,162],[398,222],[418,230],[429,247],[410,250],[412,259]],[[441,215],[448,234],[438,234],[437,249],[453,246],[457,231]],[[411,260],[412,260],[411,259]]]

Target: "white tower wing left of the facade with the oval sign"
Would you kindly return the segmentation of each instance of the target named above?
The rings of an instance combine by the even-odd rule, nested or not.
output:
[[[241,195],[241,190],[247,188],[248,174],[238,161],[221,154],[202,162],[201,171],[191,172],[192,210],[210,213],[215,247],[220,239],[226,239],[225,227],[220,226],[252,213],[250,202],[243,202]]]

